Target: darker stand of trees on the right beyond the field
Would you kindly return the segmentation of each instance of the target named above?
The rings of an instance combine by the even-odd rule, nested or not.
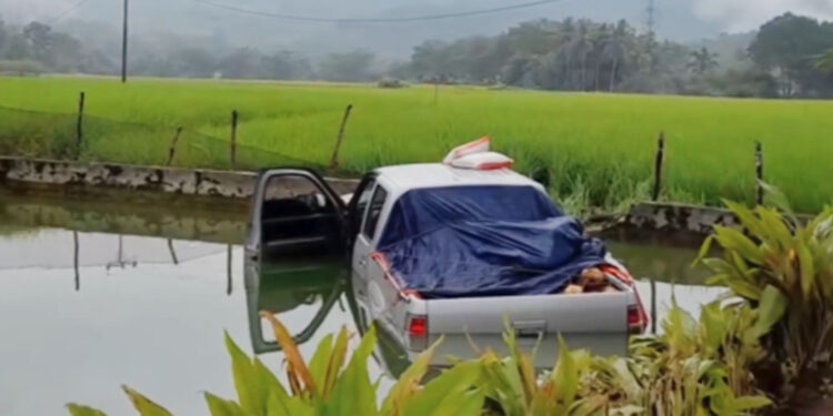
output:
[[[625,20],[538,20],[495,37],[426,41],[402,78],[566,91],[735,97],[833,95],[833,23],[784,14],[765,23],[743,65],[720,68],[705,47],[660,41]]]

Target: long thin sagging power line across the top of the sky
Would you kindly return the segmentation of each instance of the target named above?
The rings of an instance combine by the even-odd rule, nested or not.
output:
[[[402,23],[402,22],[453,19],[453,18],[462,18],[462,17],[469,17],[469,16],[499,13],[499,12],[509,11],[509,10],[528,9],[528,8],[533,8],[533,7],[549,4],[549,3],[556,3],[556,2],[564,1],[564,0],[538,0],[538,1],[530,1],[525,3],[516,3],[516,4],[496,7],[496,8],[491,8],[491,9],[469,10],[469,11],[460,11],[460,12],[442,13],[442,14],[412,16],[412,17],[403,17],[403,18],[320,18],[320,17],[314,17],[314,16],[282,14],[282,13],[272,13],[268,11],[243,9],[243,8],[239,8],[239,7],[231,6],[231,4],[218,3],[211,0],[192,0],[192,1],[198,2],[200,4],[204,4],[204,6],[235,11],[238,13],[252,14],[252,16],[259,16],[262,18],[271,18],[271,19],[280,19],[280,20],[293,20],[293,21],[315,22],[315,23]]]

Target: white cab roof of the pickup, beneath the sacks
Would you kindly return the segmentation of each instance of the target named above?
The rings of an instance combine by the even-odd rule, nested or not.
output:
[[[375,173],[395,189],[391,190],[395,194],[415,189],[475,185],[533,186],[544,192],[540,183],[510,169],[479,171],[442,163],[419,163],[380,168]]]

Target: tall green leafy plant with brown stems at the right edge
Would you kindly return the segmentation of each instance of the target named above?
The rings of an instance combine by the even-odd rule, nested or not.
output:
[[[716,226],[701,253],[716,242],[723,256],[703,260],[714,272],[710,283],[727,286],[776,322],[763,334],[770,354],[761,376],[781,377],[769,389],[791,396],[833,376],[833,209],[802,225],[783,194],[769,192],[780,211],[726,202],[745,233]],[[776,307],[764,310],[764,302]]]

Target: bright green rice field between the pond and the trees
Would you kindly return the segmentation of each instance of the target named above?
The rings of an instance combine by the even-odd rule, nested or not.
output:
[[[230,113],[240,112],[237,166],[327,165],[348,104],[342,173],[440,160],[490,135],[516,169],[569,207],[616,209],[648,197],[656,138],[666,136],[663,199],[753,201],[754,142],[765,177],[802,212],[833,201],[833,102],[558,93],[473,87],[0,78],[0,153],[228,169]],[[20,111],[27,110],[27,111]]]

